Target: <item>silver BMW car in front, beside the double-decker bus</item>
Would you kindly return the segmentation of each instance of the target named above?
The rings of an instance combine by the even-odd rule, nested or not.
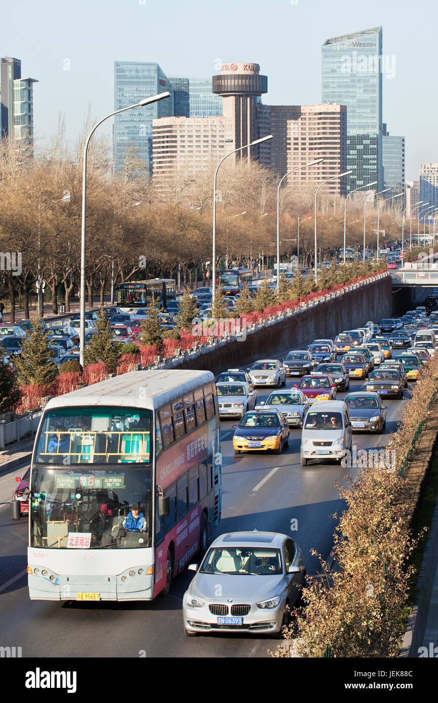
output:
[[[302,595],[301,550],[285,534],[233,532],[212,543],[183,597],[186,636],[202,632],[281,633]]]

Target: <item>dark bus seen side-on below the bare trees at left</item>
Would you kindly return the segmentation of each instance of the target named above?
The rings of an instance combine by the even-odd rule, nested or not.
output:
[[[123,312],[135,313],[141,307],[148,307],[155,297],[155,306],[167,307],[169,300],[176,299],[174,278],[150,278],[150,280],[131,280],[117,286],[117,305]]]

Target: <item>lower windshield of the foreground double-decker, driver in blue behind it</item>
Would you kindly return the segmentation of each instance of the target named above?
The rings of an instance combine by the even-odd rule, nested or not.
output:
[[[31,546],[148,547],[151,486],[151,470],[35,469]]]

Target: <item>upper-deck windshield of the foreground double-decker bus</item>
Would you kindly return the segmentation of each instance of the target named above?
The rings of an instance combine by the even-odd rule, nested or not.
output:
[[[150,411],[141,408],[73,406],[44,416],[37,464],[150,462]]]

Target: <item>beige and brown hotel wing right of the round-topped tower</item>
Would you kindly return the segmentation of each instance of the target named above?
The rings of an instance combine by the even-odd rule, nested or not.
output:
[[[344,105],[257,105],[259,136],[272,134],[269,152],[260,162],[279,176],[299,169],[286,179],[296,188],[314,187],[347,170],[347,108]],[[263,145],[261,145],[263,146]],[[323,158],[309,169],[305,164]],[[330,181],[326,193],[346,195],[346,178]]]

